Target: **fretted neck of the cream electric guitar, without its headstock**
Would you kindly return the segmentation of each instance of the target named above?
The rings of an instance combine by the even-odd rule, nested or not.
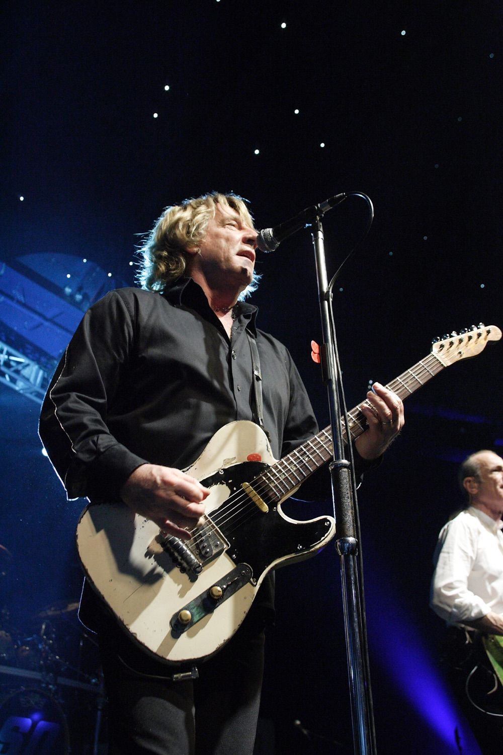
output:
[[[396,377],[386,387],[397,393],[400,399],[406,399],[422,385],[428,383],[431,377],[438,374],[445,366],[433,353],[428,354],[425,359]],[[348,429],[353,440],[367,429],[367,420],[360,409],[363,404],[370,406],[370,402],[366,399],[348,412]],[[342,438],[347,441],[348,430],[343,421],[341,424]],[[332,456],[332,430],[330,427],[325,427],[314,438],[302,443],[295,451],[269,467],[267,472],[262,474],[262,481],[267,485],[269,492],[281,500],[286,495],[290,495]]]

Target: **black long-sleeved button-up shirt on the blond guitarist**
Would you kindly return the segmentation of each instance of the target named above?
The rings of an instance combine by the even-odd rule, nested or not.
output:
[[[256,339],[263,417],[275,458],[317,433],[286,347],[239,302],[229,339],[202,289],[112,291],[84,315],[51,382],[40,436],[69,498],[117,499],[145,462],[183,469],[219,427],[252,420]]]

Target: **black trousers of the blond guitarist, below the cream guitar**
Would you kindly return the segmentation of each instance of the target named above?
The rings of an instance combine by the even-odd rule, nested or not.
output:
[[[248,621],[251,619],[251,621]],[[152,660],[114,624],[99,633],[109,755],[252,755],[264,664],[263,622],[247,617],[195,680]]]

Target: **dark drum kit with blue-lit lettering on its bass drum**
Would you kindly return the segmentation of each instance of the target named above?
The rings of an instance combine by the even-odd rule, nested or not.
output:
[[[12,563],[0,545],[0,583]],[[77,618],[78,601],[33,615],[32,633],[0,609],[0,753],[99,755],[105,696],[97,645]],[[26,636],[27,634],[27,636]]]

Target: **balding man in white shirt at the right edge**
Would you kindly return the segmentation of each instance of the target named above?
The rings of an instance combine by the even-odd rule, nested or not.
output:
[[[451,627],[443,658],[449,682],[481,750],[493,755],[503,752],[503,705],[495,707],[503,695],[499,683],[491,692],[495,676],[481,637],[503,635],[503,459],[477,451],[461,465],[459,482],[468,502],[440,532],[430,605]]]

